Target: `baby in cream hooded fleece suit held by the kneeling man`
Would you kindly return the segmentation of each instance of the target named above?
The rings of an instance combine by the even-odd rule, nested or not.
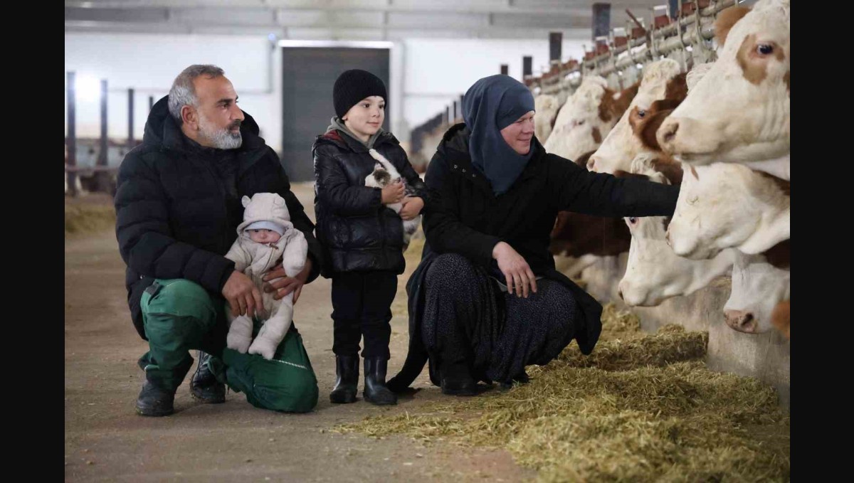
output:
[[[279,343],[284,340],[294,317],[294,294],[290,293],[281,300],[273,299],[261,288],[262,276],[279,260],[288,276],[300,273],[306,264],[308,243],[300,230],[290,223],[290,213],[284,198],[275,193],[256,193],[251,199],[243,196],[243,223],[237,226],[237,240],[226,259],[234,262],[234,269],[242,271],[254,282],[264,303],[258,310],[258,317],[269,317],[252,340],[252,318],[228,313],[228,336],[226,345],[237,352],[260,354],[272,359]]]

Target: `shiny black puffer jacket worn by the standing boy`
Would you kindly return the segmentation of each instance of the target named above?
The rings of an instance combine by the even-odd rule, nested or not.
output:
[[[429,207],[424,182],[412,169],[407,154],[390,132],[374,142],[414,195]],[[317,236],[324,248],[323,276],[341,271],[394,271],[403,273],[403,222],[394,210],[383,206],[381,190],[365,186],[376,161],[368,148],[337,130],[318,136],[314,157],[314,212]]]

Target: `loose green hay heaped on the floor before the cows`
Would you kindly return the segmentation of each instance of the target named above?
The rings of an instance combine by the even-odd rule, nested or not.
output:
[[[344,424],[340,432],[504,448],[540,481],[789,480],[789,417],[773,388],[707,370],[708,337],[606,306],[594,354],[575,345],[531,382]]]

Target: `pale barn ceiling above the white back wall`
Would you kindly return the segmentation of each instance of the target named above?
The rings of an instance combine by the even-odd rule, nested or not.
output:
[[[66,32],[262,34],[276,38],[589,39],[593,0],[89,0],[65,2]],[[666,0],[611,2],[648,22]]]

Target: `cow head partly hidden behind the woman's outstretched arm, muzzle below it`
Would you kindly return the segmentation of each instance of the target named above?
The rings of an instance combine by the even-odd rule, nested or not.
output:
[[[664,184],[681,182],[681,167],[664,154],[643,153],[632,160],[631,176]],[[625,176],[615,172],[615,176]],[[725,275],[733,264],[733,251],[711,260],[676,256],[665,240],[668,218],[625,218],[632,235],[626,273],[617,294],[629,306],[658,306],[665,299],[687,295]]]

